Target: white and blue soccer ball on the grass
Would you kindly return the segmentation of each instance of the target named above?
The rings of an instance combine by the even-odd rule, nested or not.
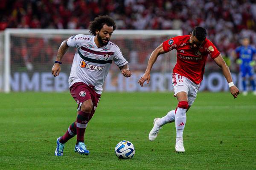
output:
[[[135,148],[131,142],[121,141],[116,144],[115,153],[119,159],[132,159],[135,154]]]

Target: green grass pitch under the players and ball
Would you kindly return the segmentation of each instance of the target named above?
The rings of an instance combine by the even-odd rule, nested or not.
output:
[[[153,119],[177,105],[172,93],[103,92],[85,132],[89,156],[54,156],[56,138],[76,119],[76,102],[65,93],[0,94],[0,169],[252,170],[256,169],[256,96],[199,92],[187,113],[184,154],[175,153],[175,124],[148,141]],[[115,145],[129,140],[133,159],[119,160]]]

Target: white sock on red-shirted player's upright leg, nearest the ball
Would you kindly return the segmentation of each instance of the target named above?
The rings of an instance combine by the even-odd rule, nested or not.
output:
[[[186,124],[186,109],[177,108],[175,116],[176,141],[183,139],[183,130]]]

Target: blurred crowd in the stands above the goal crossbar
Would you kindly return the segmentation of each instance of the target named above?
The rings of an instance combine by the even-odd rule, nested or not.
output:
[[[224,57],[241,37],[256,45],[254,0],[1,0],[0,13],[0,30],[84,29],[94,17],[108,14],[117,29],[182,29],[189,34],[195,26],[205,27]]]

